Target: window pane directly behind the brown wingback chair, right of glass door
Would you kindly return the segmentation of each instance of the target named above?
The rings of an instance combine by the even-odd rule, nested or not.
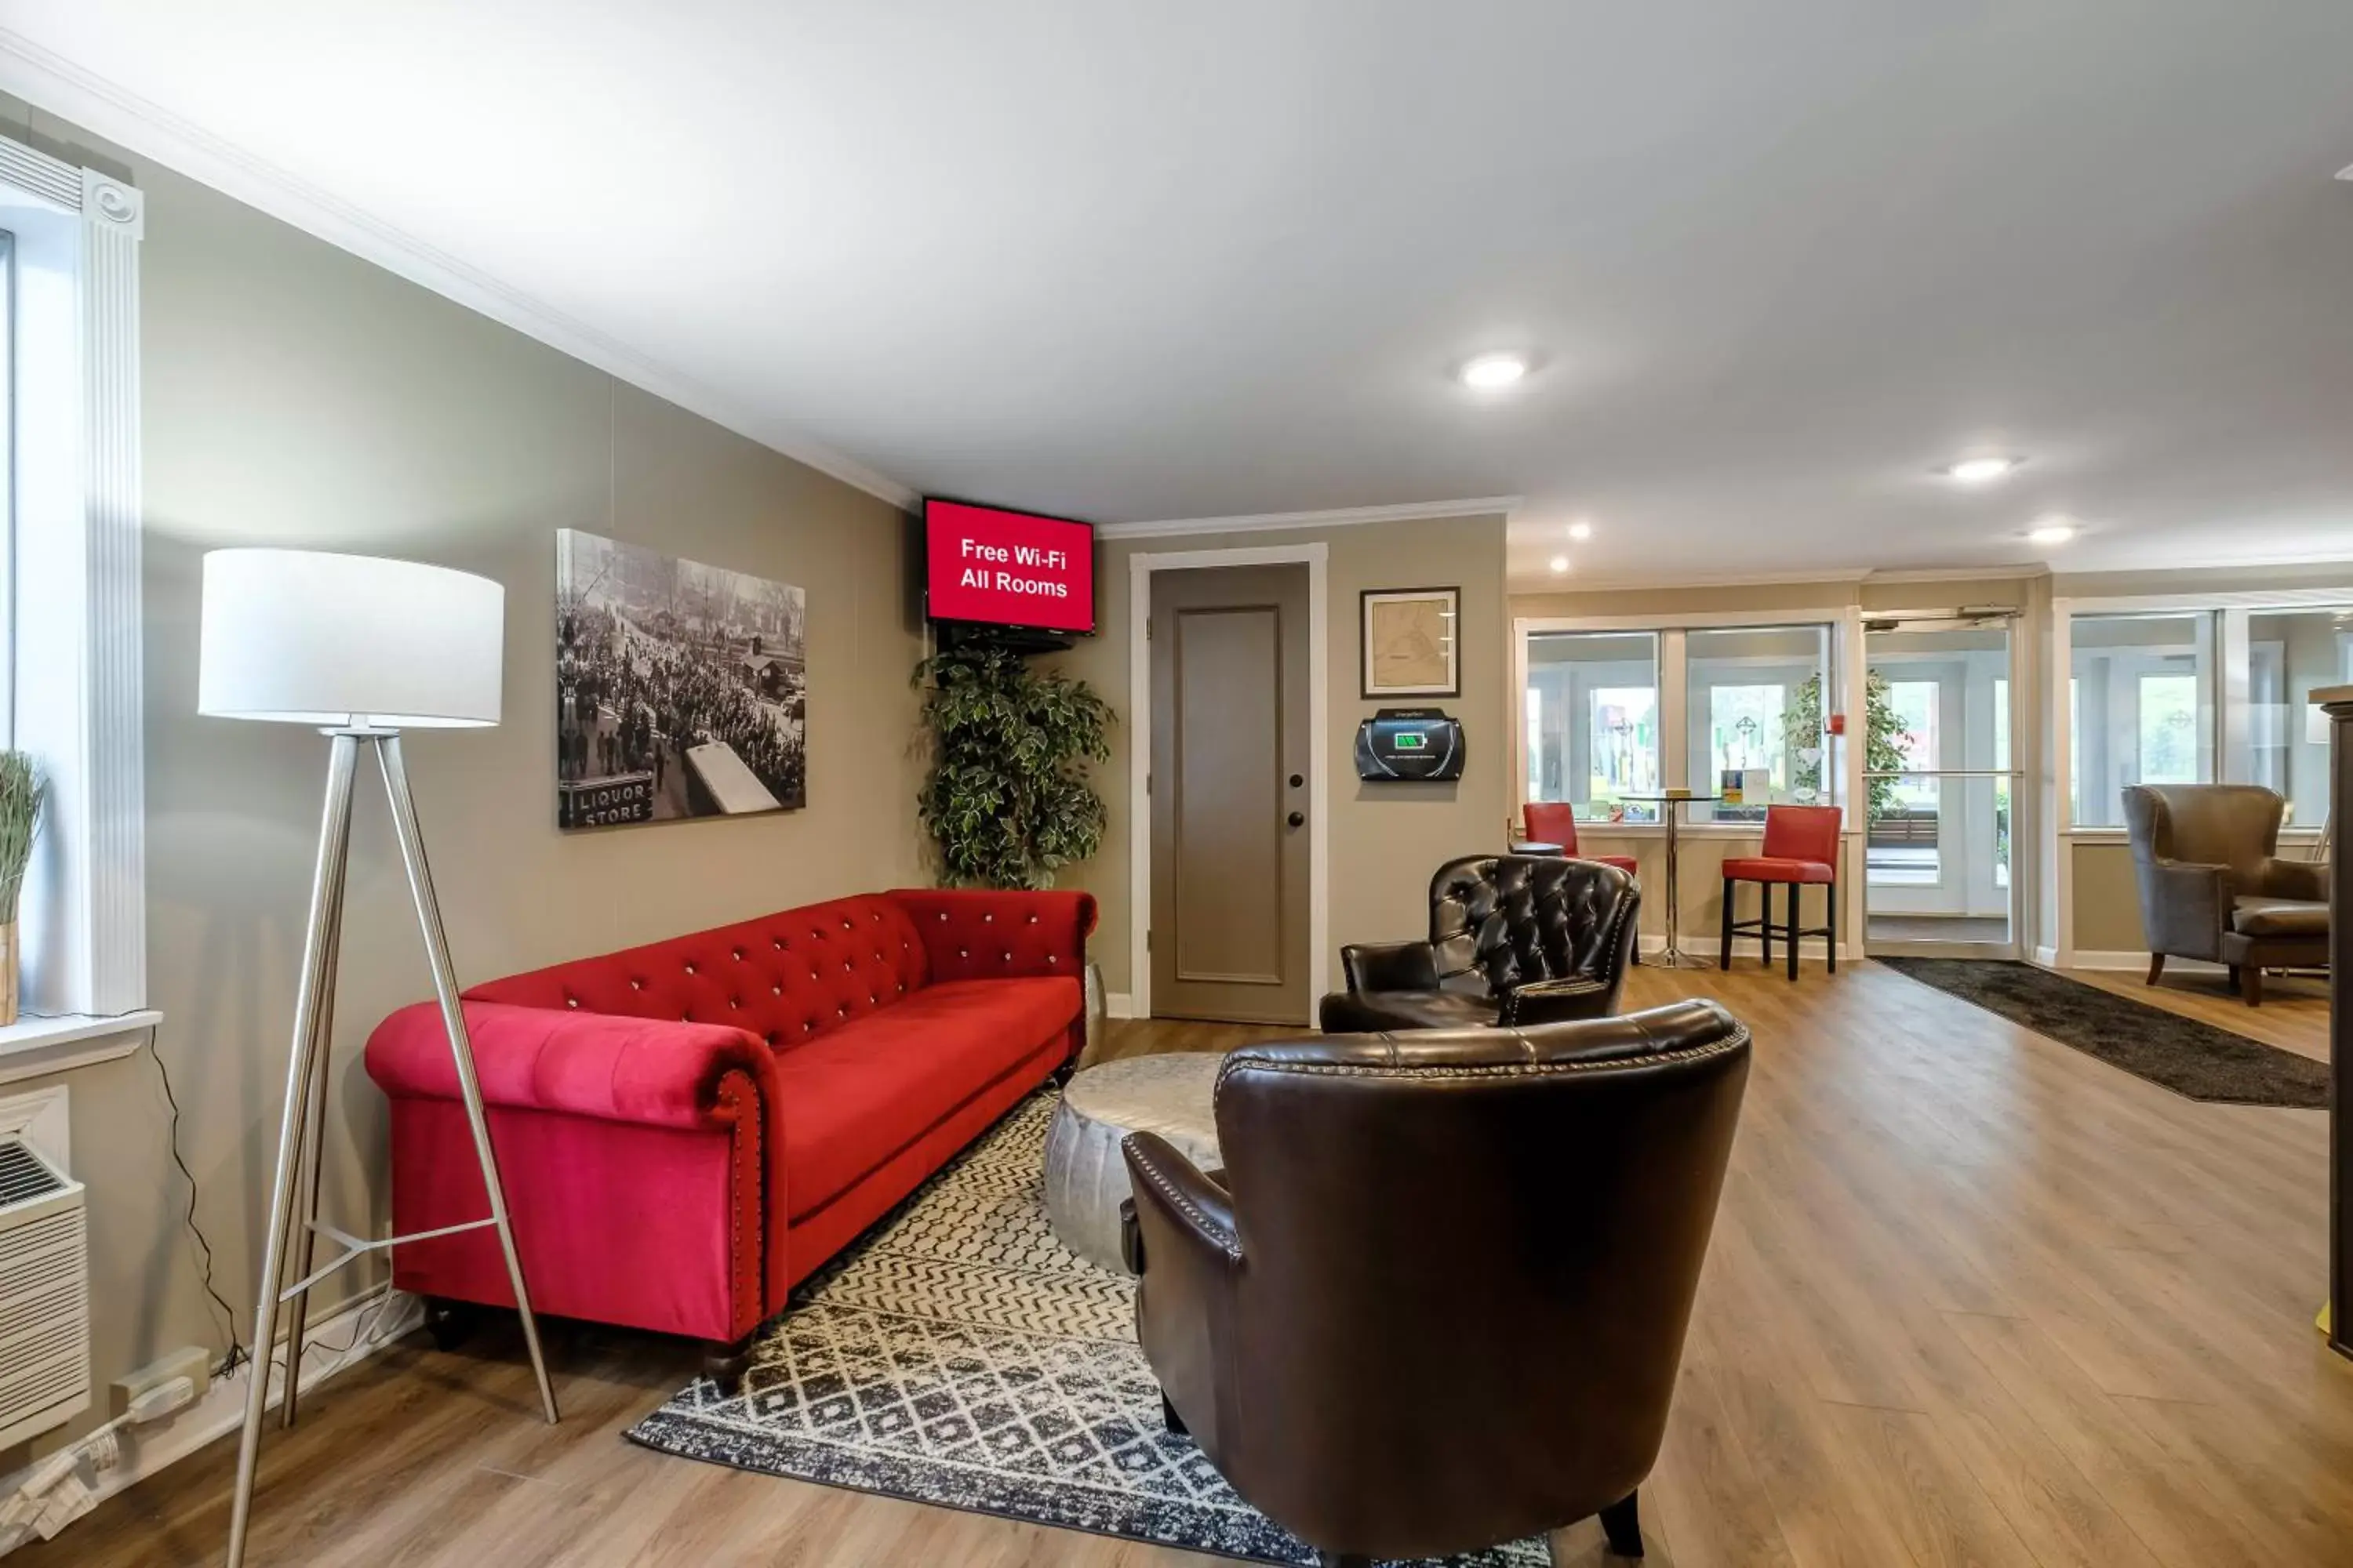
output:
[[[2120,827],[2125,785],[2212,783],[2214,611],[2075,616],[2068,741],[2075,823]]]

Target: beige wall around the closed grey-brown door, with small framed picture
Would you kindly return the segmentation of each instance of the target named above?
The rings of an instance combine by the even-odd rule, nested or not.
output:
[[[1320,541],[1329,550],[1329,884],[1334,952],[1344,943],[1417,938],[1428,929],[1431,872],[1454,856],[1494,851],[1511,813],[1511,741],[1504,729],[1511,689],[1504,611],[1504,520],[1447,517],[1381,522],[1285,534],[1200,534],[1104,541],[1099,604],[1101,637],[1082,642],[1059,663],[1089,679],[1113,708],[1111,766],[1096,790],[1111,809],[1104,853],[1078,867],[1064,886],[1085,886],[1104,905],[1094,959],[1111,992],[1129,992],[1129,780],[1144,738],[1127,722],[1129,557],[1174,550],[1224,550]],[[1461,698],[1438,703],[1464,722],[1468,757],[1449,785],[1367,785],[1351,762],[1355,726],[1381,703],[1367,703],[1358,670],[1358,595],[1367,588],[1454,585],[1461,597]],[[1388,703],[1391,708],[1409,703]],[[1334,985],[1337,959],[1334,961]]]

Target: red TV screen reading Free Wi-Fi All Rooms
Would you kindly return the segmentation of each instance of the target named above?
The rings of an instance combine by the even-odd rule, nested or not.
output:
[[[925,501],[922,534],[934,621],[1094,630],[1092,524]]]

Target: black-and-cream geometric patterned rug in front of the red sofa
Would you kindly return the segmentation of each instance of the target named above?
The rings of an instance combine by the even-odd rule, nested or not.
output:
[[[1261,1563],[1315,1552],[1160,1422],[1134,1284],[1045,1220],[1054,1093],[1005,1117],[769,1324],[736,1399],[687,1385],[631,1441],[776,1476]],[[1454,1559],[1546,1563],[1544,1542]]]

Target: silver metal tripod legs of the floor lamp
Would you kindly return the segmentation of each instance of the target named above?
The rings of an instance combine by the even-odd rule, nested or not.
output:
[[[301,1340],[311,1288],[355,1258],[400,1246],[402,1241],[424,1241],[426,1237],[466,1229],[496,1229],[499,1248],[506,1255],[506,1279],[515,1291],[515,1309],[522,1314],[522,1342],[532,1354],[539,1403],[548,1422],[555,1422],[555,1387],[548,1382],[548,1363],[539,1349],[539,1321],[532,1316],[532,1298],[522,1284],[522,1260],[515,1253],[515,1232],[506,1218],[506,1190],[499,1185],[499,1161],[489,1147],[482,1084],[473,1072],[473,1041],[466,1034],[466,1013],[459,1009],[456,971],[449,964],[449,940],[442,931],[440,903],[433,898],[433,872],[426,867],[416,802],[409,797],[409,771],[400,759],[400,733],[367,726],[329,729],[325,733],[332,741],[327,755],[327,806],[318,827],[318,870],[311,877],[311,922],[304,940],[301,990],[294,1004],[294,1053],[287,1065],[285,1121],[278,1131],[278,1178],[271,1185],[271,1229],[261,1251],[261,1286],[254,1291],[254,1366],[252,1387],[245,1396],[245,1432],[238,1443],[238,1486],[228,1509],[228,1568],[242,1568],[245,1563],[245,1537],[254,1507],[254,1467],[261,1458],[261,1420],[271,1401],[278,1307],[289,1307],[282,1418],[292,1427],[301,1385]],[[393,806],[393,832],[400,837],[400,863],[407,870],[409,898],[416,905],[416,929],[424,936],[426,961],[433,969],[433,994],[440,999],[442,1025],[449,1030],[459,1095],[466,1100],[466,1124],[473,1128],[473,1152],[482,1166],[482,1187],[489,1194],[489,1215],[482,1220],[419,1232],[414,1237],[391,1237],[386,1241],[360,1241],[332,1225],[322,1225],[318,1218],[320,1143],[327,1121],[327,1046],[334,1025],[334,969],[344,936],[344,872],[351,863],[351,795],[360,745],[374,748],[379,771],[384,773],[384,795]],[[336,1241],[341,1251],[325,1267],[313,1267],[313,1251],[320,1234]],[[292,1284],[287,1281],[289,1272],[294,1274]]]

